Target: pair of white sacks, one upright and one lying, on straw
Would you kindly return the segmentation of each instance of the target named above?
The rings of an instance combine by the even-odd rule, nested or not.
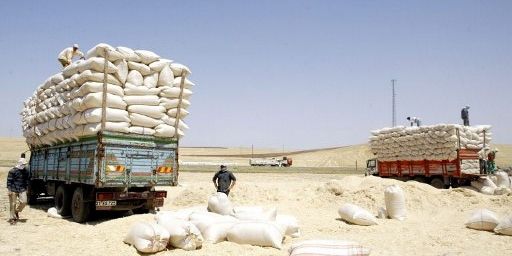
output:
[[[398,185],[391,185],[384,190],[384,202],[386,208],[380,208],[377,216],[379,218],[390,218],[404,220],[407,216],[405,207],[405,195]],[[341,219],[352,224],[361,226],[377,225],[377,218],[368,210],[357,205],[345,203],[338,209]]]

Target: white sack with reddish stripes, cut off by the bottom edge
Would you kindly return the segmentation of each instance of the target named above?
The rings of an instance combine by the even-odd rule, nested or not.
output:
[[[288,250],[290,256],[367,256],[370,249],[352,241],[344,240],[305,240],[293,243]]]

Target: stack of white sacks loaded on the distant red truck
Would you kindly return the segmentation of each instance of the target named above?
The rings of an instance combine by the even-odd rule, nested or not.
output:
[[[481,149],[492,138],[491,126],[461,126],[438,124],[422,127],[384,128],[372,131],[371,151],[382,161],[396,160],[453,160],[460,146],[463,149]],[[485,136],[484,136],[485,134]],[[466,168],[478,169],[476,162],[466,162]],[[471,170],[473,171],[473,170]]]

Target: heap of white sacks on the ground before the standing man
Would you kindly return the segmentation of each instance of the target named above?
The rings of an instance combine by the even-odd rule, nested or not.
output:
[[[135,224],[124,241],[148,253],[168,245],[195,250],[203,242],[222,241],[281,249],[286,235],[300,236],[295,217],[277,214],[276,208],[234,207],[226,194],[220,192],[208,199],[207,208],[162,211],[155,219],[156,223]]]

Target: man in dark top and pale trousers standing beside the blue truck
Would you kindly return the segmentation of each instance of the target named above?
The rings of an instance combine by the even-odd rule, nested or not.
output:
[[[7,175],[7,190],[9,191],[9,210],[11,218],[9,223],[16,224],[20,219],[19,213],[27,204],[27,188],[29,174],[25,168],[27,160],[20,158],[14,168]]]

